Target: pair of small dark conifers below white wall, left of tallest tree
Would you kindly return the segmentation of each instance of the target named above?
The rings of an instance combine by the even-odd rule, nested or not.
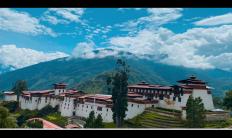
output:
[[[89,117],[86,119],[86,123],[84,125],[85,128],[103,128],[103,119],[100,114],[98,114],[97,118],[95,118],[94,111],[89,113]]]

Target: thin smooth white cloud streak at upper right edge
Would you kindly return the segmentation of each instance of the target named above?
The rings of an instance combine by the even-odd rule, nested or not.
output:
[[[194,24],[198,26],[215,26],[215,25],[232,24],[232,13],[208,17],[200,21],[197,21]]]

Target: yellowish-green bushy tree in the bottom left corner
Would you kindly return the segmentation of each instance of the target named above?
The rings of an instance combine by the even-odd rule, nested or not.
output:
[[[5,107],[0,107],[0,128],[16,128],[17,123],[14,117],[11,117]]]

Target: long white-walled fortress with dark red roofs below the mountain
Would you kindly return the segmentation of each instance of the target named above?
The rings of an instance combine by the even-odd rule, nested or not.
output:
[[[141,82],[128,86],[128,111],[125,119],[131,119],[149,107],[162,107],[182,111],[185,119],[186,103],[192,94],[201,97],[206,110],[213,110],[212,94],[205,82],[191,76],[178,81],[178,85],[161,86]],[[113,122],[112,96],[85,94],[82,91],[66,89],[66,84],[54,84],[52,90],[24,91],[20,96],[21,109],[40,110],[46,105],[59,107],[62,116],[87,118],[91,111],[100,114],[103,122]],[[8,98],[9,99],[9,98]]]

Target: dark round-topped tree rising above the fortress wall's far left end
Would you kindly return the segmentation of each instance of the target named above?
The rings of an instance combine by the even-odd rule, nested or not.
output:
[[[12,91],[16,93],[18,103],[19,103],[20,94],[26,90],[28,90],[28,88],[27,88],[27,82],[25,80],[18,80],[15,83],[14,87],[12,88]]]

